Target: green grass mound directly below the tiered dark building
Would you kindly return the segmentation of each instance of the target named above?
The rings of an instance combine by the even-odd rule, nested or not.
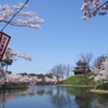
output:
[[[94,81],[89,79],[89,76],[77,75],[71,76],[64,80],[62,84],[71,84],[71,85],[94,85]]]

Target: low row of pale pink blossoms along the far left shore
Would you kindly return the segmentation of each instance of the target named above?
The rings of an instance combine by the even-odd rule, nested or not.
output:
[[[5,77],[5,80],[4,80]],[[2,78],[2,79],[1,79]],[[5,76],[0,78],[0,85],[5,83],[12,83],[12,84],[18,84],[18,83],[28,83],[28,84],[37,84],[42,83],[43,79],[38,78],[37,76],[22,76],[22,75],[14,75],[14,73],[5,73]],[[46,83],[56,83],[56,79],[51,79],[48,77],[44,77],[44,81]]]

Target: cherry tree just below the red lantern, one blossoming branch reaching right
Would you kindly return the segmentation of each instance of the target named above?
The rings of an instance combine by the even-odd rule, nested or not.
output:
[[[11,48],[6,48],[2,62],[0,64],[0,82],[1,84],[6,80],[5,72],[8,71],[8,66],[12,65],[13,62],[18,60],[18,58],[25,58],[27,60],[31,60],[32,58],[28,56],[26,53],[19,53],[16,51],[13,51]],[[5,66],[5,70],[3,67]]]

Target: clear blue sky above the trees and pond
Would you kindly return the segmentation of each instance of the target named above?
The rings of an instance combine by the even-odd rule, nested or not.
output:
[[[25,0],[1,0],[0,5],[19,2]],[[11,36],[9,46],[32,57],[14,62],[9,71],[48,73],[57,64],[75,67],[80,54],[93,53],[93,59],[108,54],[108,15],[82,21],[82,0],[29,0],[27,4],[23,11],[37,13],[44,23],[41,30],[10,25],[3,30]]]

